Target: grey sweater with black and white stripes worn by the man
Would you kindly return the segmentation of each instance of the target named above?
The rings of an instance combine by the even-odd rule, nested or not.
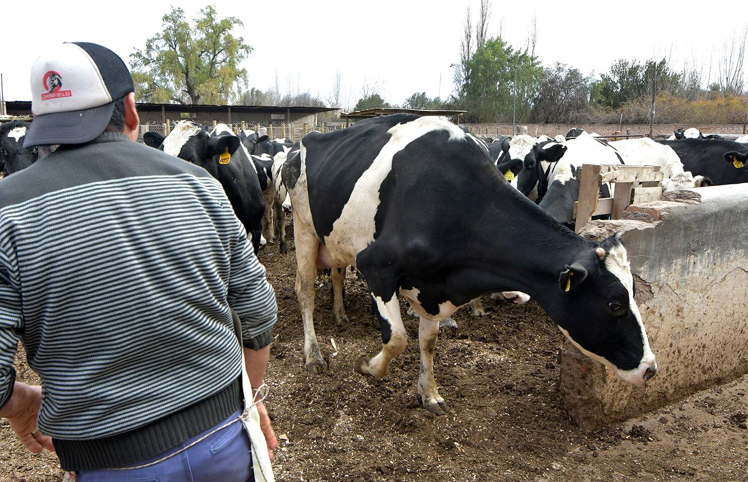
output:
[[[217,394],[200,409],[212,415],[180,422],[169,443],[236,410],[231,309],[246,347],[270,343],[275,293],[202,168],[104,132],[0,180],[0,406],[20,339],[42,380],[40,430],[64,467],[67,452],[73,469],[122,463],[91,463],[84,441],[132,436]]]

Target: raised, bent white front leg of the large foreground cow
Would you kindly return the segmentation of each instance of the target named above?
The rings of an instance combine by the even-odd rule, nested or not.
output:
[[[389,301],[384,302],[379,296],[373,295],[376,308],[379,311],[379,323],[381,325],[381,352],[373,358],[362,356],[355,365],[355,370],[364,375],[384,376],[390,367],[390,361],[405,350],[408,343],[408,335],[402,326],[400,316],[400,304],[397,296],[392,295]]]

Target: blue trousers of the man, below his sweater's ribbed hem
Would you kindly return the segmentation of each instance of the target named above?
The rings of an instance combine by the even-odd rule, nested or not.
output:
[[[237,411],[226,421],[215,427],[221,427],[227,421],[236,419],[241,414]],[[215,430],[209,428],[203,433],[184,442],[170,451],[157,455],[150,460],[133,464],[141,466],[166,457],[179,451],[200,437]],[[186,451],[142,469],[129,470],[91,470],[81,471],[76,475],[76,482],[251,482],[252,455],[249,436],[241,421],[236,421],[213,433],[205,440],[191,446]]]

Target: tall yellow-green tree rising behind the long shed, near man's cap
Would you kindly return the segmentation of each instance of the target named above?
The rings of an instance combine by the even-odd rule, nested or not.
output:
[[[231,31],[242,22],[218,19],[215,7],[200,10],[189,25],[184,10],[174,8],[162,18],[163,31],[130,55],[137,100],[156,103],[229,103],[235,85],[246,85],[247,70],[239,68],[251,47]]]

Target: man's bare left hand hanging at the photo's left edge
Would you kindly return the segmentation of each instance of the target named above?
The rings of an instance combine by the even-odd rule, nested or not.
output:
[[[34,454],[40,454],[45,448],[55,451],[52,437],[42,435],[37,427],[41,406],[42,388],[39,385],[16,382],[13,395],[2,409],[2,415],[10,422],[10,428],[25,448]]]

